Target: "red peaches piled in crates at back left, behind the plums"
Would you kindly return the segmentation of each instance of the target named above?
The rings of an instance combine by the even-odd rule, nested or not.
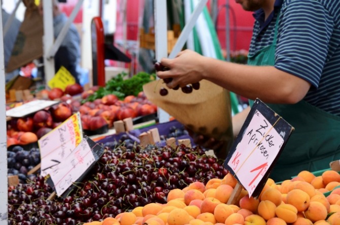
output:
[[[7,146],[36,142],[78,111],[83,129],[90,131],[98,130],[105,125],[110,128],[116,120],[149,115],[157,111],[157,107],[146,99],[143,92],[137,97],[129,95],[123,100],[119,100],[114,94],[108,94],[94,102],[81,104],[83,99],[94,93],[95,88],[83,91],[80,86],[66,88],[65,91],[60,88],[42,91],[43,98],[60,100],[60,103],[33,115],[12,118],[7,125]],[[76,94],[79,94],[80,98],[74,98]]]

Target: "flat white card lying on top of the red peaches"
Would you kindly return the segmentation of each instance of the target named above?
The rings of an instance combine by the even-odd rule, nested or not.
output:
[[[31,113],[45,109],[59,103],[59,101],[48,101],[48,100],[34,100],[21,106],[9,109],[6,111],[6,116],[10,117],[24,117]]]

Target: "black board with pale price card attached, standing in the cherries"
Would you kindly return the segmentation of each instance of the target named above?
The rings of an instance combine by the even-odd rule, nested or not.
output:
[[[47,183],[55,188],[57,196],[68,196],[75,187],[73,183],[83,180],[104,151],[103,147],[85,136],[72,153],[54,167]]]

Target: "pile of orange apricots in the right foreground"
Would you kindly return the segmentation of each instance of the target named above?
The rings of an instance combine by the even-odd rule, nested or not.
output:
[[[241,191],[235,205],[227,205],[236,185],[229,173],[204,185],[193,182],[173,189],[167,203],[149,203],[103,221],[86,225],[336,225],[340,224],[340,174],[320,176],[308,171],[277,184],[268,179],[257,199]],[[329,195],[325,195],[327,192]],[[327,197],[326,197],[327,196]]]

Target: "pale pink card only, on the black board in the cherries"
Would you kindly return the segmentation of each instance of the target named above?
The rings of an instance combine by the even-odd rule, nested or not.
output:
[[[87,140],[83,139],[74,151],[50,173],[57,195],[61,196],[94,162],[95,157],[91,147]]]

